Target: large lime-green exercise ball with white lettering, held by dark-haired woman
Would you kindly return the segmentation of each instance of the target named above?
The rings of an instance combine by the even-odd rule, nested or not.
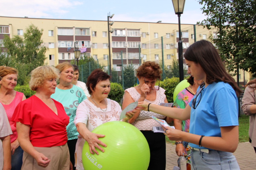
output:
[[[96,127],[93,133],[104,134],[99,138],[107,147],[104,153],[98,148],[99,155],[92,155],[85,142],[82,162],[85,170],[146,170],[149,166],[149,144],[144,135],[133,125],[112,121]]]

